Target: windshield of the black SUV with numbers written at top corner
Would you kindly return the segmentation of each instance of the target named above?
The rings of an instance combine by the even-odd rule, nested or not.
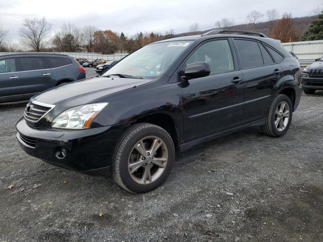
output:
[[[163,74],[192,41],[149,44],[122,59],[102,77],[122,74],[154,79]]]

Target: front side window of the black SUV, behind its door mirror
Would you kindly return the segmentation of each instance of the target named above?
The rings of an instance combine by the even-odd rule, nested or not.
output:
[[[188,58],[186,64],[207,62],[210,65],[210,74],[234,70],[233,58],[228,40],[207,42]]]

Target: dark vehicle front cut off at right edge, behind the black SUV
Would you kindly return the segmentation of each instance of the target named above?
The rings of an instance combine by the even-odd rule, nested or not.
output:
[[[315,59],[314,63],[304,68],[302,86],[306,94],[323,90],[323,57]]]

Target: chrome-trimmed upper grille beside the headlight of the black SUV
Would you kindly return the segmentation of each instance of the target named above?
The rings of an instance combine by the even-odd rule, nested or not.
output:
[[[46,115],[53,107],[55,106],[50,104],[39,102],[37,102],[36,104],[35,102],[29,102],[25,108],[24,118],[29,122],[36,123],[39,121],[40,118]]]

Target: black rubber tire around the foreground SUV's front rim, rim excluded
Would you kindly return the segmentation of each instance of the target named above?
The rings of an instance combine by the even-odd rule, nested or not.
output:
[[[144,137],[156,136],[164,141],[168,149],[168,161],[161,175],[149,184],[136,183],[128,172],[128,159],[135,144]],[[132,193],[146,193],[160,186],[171,172],[175,160],[175,148],[171,136],[163,128],[151,124],[136,124],[129,127],[117,142],[113,157],[111,172],[116,183]]]

